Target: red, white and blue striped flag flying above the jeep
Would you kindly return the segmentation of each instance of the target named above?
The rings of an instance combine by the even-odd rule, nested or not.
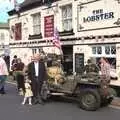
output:
[[[61,49],[61,42],[60,42],[59,32],[57,27],[54,29],[54,38],[52,40],[52,43],[55,47]]]

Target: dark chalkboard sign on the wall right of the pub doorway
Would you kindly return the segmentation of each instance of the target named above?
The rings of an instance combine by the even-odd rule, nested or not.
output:
[[[84,71],[84,54],[76,53],[75,54],[75,72],[82,74]]]

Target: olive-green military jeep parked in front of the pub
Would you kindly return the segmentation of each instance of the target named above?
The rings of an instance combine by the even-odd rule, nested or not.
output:
[[[109,105],[113,97],[104,95],[101,90],[99,75],[71,75],[64,76],[64,82],[54,84],[48,80],[49,98],[51,96],[62,96],[77,101],[80,108],[95,111],[103,105]],[[44,95],[44,94],[43,94]]]

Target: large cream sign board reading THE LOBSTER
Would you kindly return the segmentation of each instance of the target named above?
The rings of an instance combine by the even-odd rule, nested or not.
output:
[[[96,0],[78,5],[78,31],[115,27],[120,18],[120,4],[115,0]],[[120,22],[120,21],[119,21]]]

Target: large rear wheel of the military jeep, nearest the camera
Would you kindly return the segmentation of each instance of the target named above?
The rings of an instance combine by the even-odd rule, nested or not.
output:
[[[93,89],[87,89],[80,93],[79,106],[88,111],[95,111],[100,107],[101,98],[99,93]]]

